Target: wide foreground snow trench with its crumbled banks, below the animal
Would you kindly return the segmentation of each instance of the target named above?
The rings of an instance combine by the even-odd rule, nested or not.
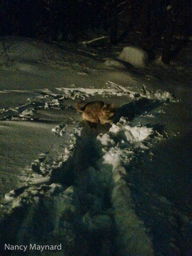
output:
[[[1,255],[45,255],[38,245],[60,244],[46,255],[153,255],[125,179],[134,147],[146,148],[152,128],[122,118],[105,134],[86,129],[79,122],[58,125],[55,134],[65,143],[40,154],[24,170],[23,186],[5,195]],[[28,248],[5,250],[5,244]]]

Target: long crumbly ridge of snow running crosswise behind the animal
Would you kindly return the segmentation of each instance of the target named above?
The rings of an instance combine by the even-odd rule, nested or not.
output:
[[[96,89],[96,88],[55,88],[54,90],[41,89],[35,90],[35,92],[41,93],[34,99],[27,99],[26,105],[22,105],[16,108],[0,109],[0,120],[38,120],[37,112],[41,109],[65,109],[73,108],[66,106],[65,101],[67,99],[81,99],[84,101],[89,99],[90,96],[101,95],[106,98],[111,95],[116,96],[128,96],[130,99],[150,99],[163,102],[177,102],[175,97],[167,92],[157,90],[152,92],[142,86],[139,90],[129,90],[121,85],[115,84],[111,81],[107,81],[108,88]],[[0,93],[8,93],[10,91],[3,90]]]

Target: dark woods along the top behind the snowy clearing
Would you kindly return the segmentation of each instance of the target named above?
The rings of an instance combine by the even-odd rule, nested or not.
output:
[[[166,56],[173,36],[187,40],[191,33],[191,9],[191,0],[1,0],[0,35],[48,42],[108,35],[116,45],[130,43],[131,34],[150,49],[163,47],[164,37]]]

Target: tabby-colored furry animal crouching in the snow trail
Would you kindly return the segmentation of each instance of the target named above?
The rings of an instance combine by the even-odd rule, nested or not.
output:
[[[100,121],[102,125],[113,123],[116,110],[113,104],[105,104],[101,101],[77,102],[75,108],[82,112],[82,117],[88,122],[97,124]]]

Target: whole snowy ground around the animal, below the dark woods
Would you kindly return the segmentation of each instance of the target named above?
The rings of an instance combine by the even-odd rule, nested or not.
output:
[[[186,63],[123,70],[17,40],[0,69],[1,255],[192,255]],[[91,129],[79,99],[113,102],[114,124]]]

